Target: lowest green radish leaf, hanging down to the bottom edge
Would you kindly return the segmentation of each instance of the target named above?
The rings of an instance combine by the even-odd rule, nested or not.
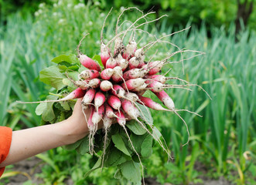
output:
[[[141,184],[141,170],[139,163],[129,160],[119,166],[121,174],[131,183]]]

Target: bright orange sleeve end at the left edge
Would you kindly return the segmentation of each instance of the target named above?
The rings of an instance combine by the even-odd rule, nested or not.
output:
[[[0,163],[8,156],[9,149],[12,143],[12,129],[5,126],[0,126]],[[0,177],[4,173],[5,167],[0,168]]]

